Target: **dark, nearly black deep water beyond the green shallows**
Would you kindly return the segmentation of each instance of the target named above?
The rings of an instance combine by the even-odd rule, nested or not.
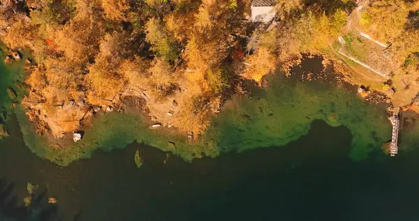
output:
[[[284,147],[191,164],[173,155],[164,164],[166,153],[131,144],[59,167],[24,146],[14,119],[8,129],[0,141],[0,208],[20,220],[36,213],[22,208],[27,182],[40,185],[33,220],[43,221],[419,220],[419,151],[353,162],[351,132],[323,121]],[[47,204],[50,196],[59,203]]]

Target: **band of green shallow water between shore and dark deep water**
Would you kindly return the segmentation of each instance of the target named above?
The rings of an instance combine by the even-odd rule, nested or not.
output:
[[[321,60],[316,59],[306,58],[302,66],[314,61],[321,65]],[[111,112],[96,117],[91,128],[84,131],[82,140],[71,147],[57,148],[48,146],[45,137],[36,135],[23,107],[17,105],[14,112],[31,151],[63,166],[90,158],[97,149],[109,152],[132,142],[171,151],[186,161],[203,155],[214,158],[222,152],[284,146],[306,135],[311,122],[317,119],[351,130],[349,157],[353,160],[367,158],[374,148],[390,139],[391,125],[385,118],[385,109],[360,99],[353,90],[320,80],[302,82],[285,78],[284,73],[268,75],[266,79],[269,87],[254,87],[251,96],[229,100],[197,142],[172,132],[149,130],[140,114]]]

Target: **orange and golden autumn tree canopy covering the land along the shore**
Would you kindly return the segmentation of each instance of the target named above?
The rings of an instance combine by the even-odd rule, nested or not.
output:
[[[0,34],[34,54],[22,103],[38,130],[61,137],[138,98],[152,119],[200,135],[242,81],[323,53],[357,6],[278,0],[274,21],[254,24],[249,0],[1,0]],[[417,72],[418,21],[416,1],[375,0],[360,23]]]

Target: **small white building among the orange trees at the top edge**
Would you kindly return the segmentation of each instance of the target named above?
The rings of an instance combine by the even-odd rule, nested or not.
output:
[[[277,10],[276,0],[253,0],[251,2],[251,22],[272,22]]]

